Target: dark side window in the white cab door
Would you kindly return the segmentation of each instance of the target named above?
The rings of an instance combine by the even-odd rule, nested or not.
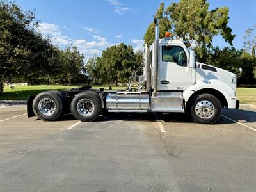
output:
[[[187,66],[187,56],[180,46],[162,46],[162,61],[173,62],[179,66]]]

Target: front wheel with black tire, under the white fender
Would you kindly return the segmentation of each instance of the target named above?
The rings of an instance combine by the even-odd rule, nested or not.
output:
[[[191,102],[189,116],[198,124],[214,124],[221,115],[221,103],[210,94],[197,95]]]

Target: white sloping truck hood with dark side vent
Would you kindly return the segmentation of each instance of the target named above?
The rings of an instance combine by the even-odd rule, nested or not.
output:
[[[196,62],[196,81],[216,79],[228,84],[233,90],[236,90],[236,84],[232,83],[232,77],[234,76],[236,76],[236,74],[222,68]]]

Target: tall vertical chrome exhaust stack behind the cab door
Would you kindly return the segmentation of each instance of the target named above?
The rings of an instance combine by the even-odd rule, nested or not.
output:
[[[154,88],[154,91],[152,93],[152,96],[155,97],[157,90],[158,90],[158,71],[159,71],[159,63],[158,63],[158,53],[159,53],[159,25],[158,20],[154,19],[155,24],[155,40],[153,45],[153,79],[152,79],[152,87]]]

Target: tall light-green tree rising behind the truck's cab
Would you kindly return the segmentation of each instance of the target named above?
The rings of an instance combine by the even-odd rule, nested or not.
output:
[[[204,61],[206,52],[212,47],[214,36],[220,34],[230,45],[235,36],[227,26],[228,8],[209,10],[206,0],[180,0],[179,3],[172,3],[165,11],[161,3],[155,17],[159,19],[160,38],[169,30],[183,40],[195,40],[199,45],[197,52],[201,61]],[[144,40],[145,44],[154,41],[154,24],[148,26]]]

